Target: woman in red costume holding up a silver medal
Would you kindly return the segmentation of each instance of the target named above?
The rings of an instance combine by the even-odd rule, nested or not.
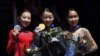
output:
[[[29,48],[34,41],[34,33],[28,30],[31,23],[31,13],[23,11],[19,17],[19,25],[9,32],[7,53],[14,50],[14,56],[25,56],[25,48]]]

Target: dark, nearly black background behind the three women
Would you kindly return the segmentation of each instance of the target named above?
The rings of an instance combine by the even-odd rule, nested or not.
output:
[[[24,8],[32,12],[32,28],[39,22],[39,12],[43,7],[54,9],[57,21],[64,28],[66,25],[65,14],[69,8],[76,8],[80,15],[80,22],[83,27],[90,30],[98,45],[98,50],[87,56],[100,56],[100,2],[99,0],[0,0],[0,56],[6,54],[8,32],[14,25],[14,18]],[[14,9],[16,8],[17,14]],[[56,23],[58,23],[56,22]]]

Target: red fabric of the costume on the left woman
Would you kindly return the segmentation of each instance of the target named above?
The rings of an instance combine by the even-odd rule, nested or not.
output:
[[[23,31],[18,34],[18,42],[15,41],[15,37],[12,35],[12,30],[9,32],[9,39],[7,45],[7,53],[9,54],[13,49],[15,51],[14,56],[25,56],[25,47],[30,47],[30,43],[34,40],[34,33],[31,31]]]

